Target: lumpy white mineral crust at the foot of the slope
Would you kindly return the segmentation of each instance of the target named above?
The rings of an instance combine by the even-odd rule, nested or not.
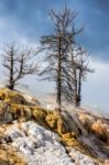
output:
[[[95,165],[77,151],[72,150],[70,158],[59,136],[33,121],[22,122],[20,128],[14,123],[6,132],[6,138],[11,139],[10,145],[19,151],[28,165]]]

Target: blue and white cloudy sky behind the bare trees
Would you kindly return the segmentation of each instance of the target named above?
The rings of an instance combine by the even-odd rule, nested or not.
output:
[[[12,41],[39,45],[42,35],[53,33],[48,11],[62,9],[65,2],[78,12],[75,26],[85,26],[77,42],[90,52],[90,66],[95,68],[84,82],[83,103],[108,112],[109,0],[0,0],[0,48]],[[2,69],[0,75],[2,82]],[[26,84],[35,92],[52,92],[54,88],[53,84],[32,78],[26,78]]]

